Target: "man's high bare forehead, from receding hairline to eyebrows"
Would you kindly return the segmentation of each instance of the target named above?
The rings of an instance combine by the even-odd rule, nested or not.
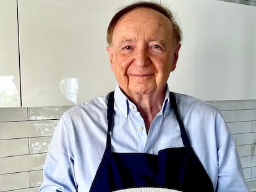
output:
[[[114,27],[113,37],[131,33],[173,34],[173,25],[165,15],[150,8],[137,8],[124,14]]]

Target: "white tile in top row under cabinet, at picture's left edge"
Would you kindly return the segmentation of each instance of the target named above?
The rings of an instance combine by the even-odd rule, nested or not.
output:
[[[14,122],[28,120],[26,107],[0,108],[0,122]]]

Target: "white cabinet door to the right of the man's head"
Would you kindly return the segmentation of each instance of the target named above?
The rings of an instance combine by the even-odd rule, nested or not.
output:
[[[256,98],[256,10],[215,0],[161,0],[184,33],[171,90],[205,100]]]

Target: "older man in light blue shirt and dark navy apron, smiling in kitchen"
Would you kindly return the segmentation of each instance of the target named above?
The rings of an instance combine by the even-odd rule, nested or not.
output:
[[[114,15],[107,50],[118,85],[62,116],[40,191],[249,191],[220,112],[168,90],[180,41],[159,4],[137,2]]]

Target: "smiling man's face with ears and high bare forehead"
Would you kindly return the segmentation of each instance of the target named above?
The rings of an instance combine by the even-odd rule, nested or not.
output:
[[[161,93],[176,67],[180,46],[174,45],[171,22],[160,12],[139,8],[122,16],[107,48],[122,91],[130,97]]]

